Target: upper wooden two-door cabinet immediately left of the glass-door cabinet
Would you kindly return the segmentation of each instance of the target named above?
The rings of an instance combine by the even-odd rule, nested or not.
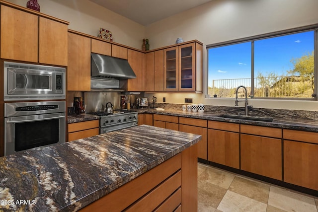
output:
[[[145,57],[145,91],[163,91],[164,51],[146,53]]]

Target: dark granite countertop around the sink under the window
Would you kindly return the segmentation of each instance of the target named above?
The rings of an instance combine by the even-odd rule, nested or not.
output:
[[[187,118],[196,118],[196,119],[205,119],[212,121],[222,121],[222,122],[231,122],[231,123],[240,123],[246,125],[257,125],[264,127],[275,127],[275,128],[283,128],[290,130],[302,130],[309,132],[318,132],[318,121],[317,120],[305,120],[305,119],[297,119],[295,117],[288,117],[280,114],[265,114],[265,117],[272,118],[272,122],[264,122],[264,121],[251,121],[251,120],[241,120],[236,118],[223,118],[220,117],[223,114],[232,114],[230,113],[215,113],[215,112],[187,112],[182,110],[170,110],[164,109],[164,111],[159,111],[156,109],[146,108],[146,109],[138,109],[139,113],[152,113],[152,114],[162,114],[162,115],[170,115],[170,116],[179,116],[179,117],[187,117]],[[254,115],[254,116],[253,116]],[[264,114],[253,114],[251,117],[264,117]]]

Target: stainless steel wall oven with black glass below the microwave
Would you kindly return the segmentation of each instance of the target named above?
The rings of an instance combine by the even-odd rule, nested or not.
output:
[[[4,155],[65,143],[65,101],[4,103]]]

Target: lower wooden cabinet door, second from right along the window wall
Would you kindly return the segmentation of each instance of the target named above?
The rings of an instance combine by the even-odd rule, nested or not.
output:
[[[282,180],[282,140],[240,135],[240,168]]]

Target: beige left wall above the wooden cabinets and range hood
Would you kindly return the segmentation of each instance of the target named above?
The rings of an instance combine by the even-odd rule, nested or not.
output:
[[[27,0],[7,0],[26,7]],[[38,0],[41,12],[70,22],[69,29],[97,36],[99,28],[112,32],[113,41],[141,49],[145,27],[90,0]]]

